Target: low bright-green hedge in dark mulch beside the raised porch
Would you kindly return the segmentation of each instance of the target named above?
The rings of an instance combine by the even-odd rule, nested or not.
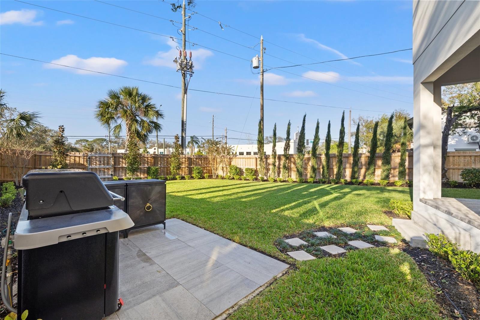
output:
[[[435,255],[452,263],[463,277],[480,284],[480,254],[470,250],[461,250],[444,234],[427,234],[427,245]]]

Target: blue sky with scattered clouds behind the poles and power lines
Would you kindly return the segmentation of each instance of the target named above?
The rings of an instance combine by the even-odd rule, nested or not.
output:
[[[180,37],[178,27],[169,21],[96,1],[26,2]],[[158,0],[109,3],[181,21],[181,12],[172,12],[168,3]],[[180,74],[172,62],[178,55],[177,44],[168,37],[16,1],[1,1],[0,6],[2,53],[180,86]],[[246,60],[259,53],[260,35],[270,42],[264,44],[266,54],[295,64],[408,49],[412,44],[411,1],[197,1],[194,11],[199,14],[193,14],[190,21],[191,42]],[[224,30],[200,14],[220,21]],[[247,47],[257,45],[257,52],[193,27]],[[258,74],[252,74],[250,62],[204,47],[190,48],[195,64],[190,89],[259,97]],[[266,66],[291,64],[269,55],[264,57]],[[180,89],[4,55],[0,59],[1,87],[7,91],[7,101],[19,110],[42,112],[42,123],[51,128],[64,124],[67,135],[105,135],[93,118],[96,101],[105,97],[108,89],[120,86],[139,86],[162,105],[165,120],[161,135],[180,133]],[[352,110],[353,118],[395,109],[412,112],[411,50],[308,68],[268,71],[264,97],[340,108],[265,101],[265,135],[271,134],[277,123],[278,135],[285,136],[289,119],[295,131],[305,112],[307,137],[313,136],[318,118],[322,137],[328,120],[332,121],[333,138],[338,136],[342,108],[369,110]],[[187,135],[211,135],[210,121],[215,114],[216,135],[228,127],[229,138],[245,138],[233,130],[254,137],[259,105],[258,99],[190,91]]]

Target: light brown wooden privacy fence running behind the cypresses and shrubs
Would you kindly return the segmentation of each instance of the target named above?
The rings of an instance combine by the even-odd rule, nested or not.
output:
[[[413,179],[413,153],[407,153],[407,179]],[[365,179],[365,172],[368,161],[368,154],[360,154],[359,161],[359,171],[360,179]],[[0,155],[0,181],[13,181],[13,176],[4,161],[4,155]],[[139,177],[147,176],[147,167],[157,166],[160,168],[160,175],[170,175],[170,155],[157,155],[157,154],[143,154],[141,158],[141,166],[137,173]],[[324,154],[317,157],[317,178],[320,178],[322,175],[322,163],[324,161]],[[32,169],[42,169],[47,168],[52,159],[51,152],[39,152],[36,153],[32,158],[30,158],[26,171]],[[204,173],[212,174],[212,170],[209,165],[208,157],[206,156],[190,156],[184,155],[180,159],[181,169],[180,174],[192,174],[192,168],[195,166],[202,167]],[[231,159],[231,164],[235,164],[240,169],[242,173],[245,168],[258,169],[259,161],[258,156],[237,156]],[[272,167],[273,158],[267,156],[265,159],[265,168],[266,172],[270,172]],[[353,157],[350,153],[345,153],[343,155],[343,167],[344,175],[346,179],[350,179],[351,166],[352,166]],[[278,155],[277,157],[277,176],[281,173],[283,156]],[[398,177],[398,163],[400,162],[400,153],[392,154],[392,170],[390,172],[390,180],[395,181]],[[123,159],[123,153],[109,153],[109,154],[87,154],[81,152],[72,152],[69,154],[67,159],[69,168],[72,169],[82,169],[92,172],[96,172],[102,180],[111,180],[112,176],[124,177],[126,176],[126,164]],[[288,172],[289,176],[292,178],[296,177],[296,155],[290,155],[288,158]],[[303,161],[303,172],[304,178],[308,177],[311,166],[311,157],[310,155],[305,155]],[[378,153],[376,155],[375,162],[375,180],[380,180],[380,173],[382,168],[382,154]],[[446,160],[447,176],[450,180],[456,180],[462,182],[460,177],[460,172],[466,168],[480,168],[480,151],[455,151],[447,153]],[[333,177],[336,172],[336,154],[330,155],[330,177]],[[220,174],[225,174],[220,168]]]

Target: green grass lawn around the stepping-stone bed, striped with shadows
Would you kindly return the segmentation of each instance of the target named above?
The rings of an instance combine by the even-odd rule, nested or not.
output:
[[[179,218],[245,246],[288,260],[274,242],[319,226],[391,225],[390,199],[411,188],[191,180],[167,183],[167,218]],[[460,189],[445,189],[458,197]],[[465,190],[465,189],[464,189]],[[464,190],[462,195],[465,197]],[[468,190],[470,191],[470,190]],[[476,190],[475,190],[476,191]],[[469,192],[477,197],[478,192]],[[432,288],[413,260],[392,248],[350,251],[345,258],[298,262],[241,307],[233,319],[436,319]]]

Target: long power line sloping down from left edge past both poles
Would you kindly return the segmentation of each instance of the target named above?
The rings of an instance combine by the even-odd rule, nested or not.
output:
[[[168,87],[180,89],[179,86],[166,85],[166,84],[159,83],[159,82],[155,82],[155,81],[149,81],[149,80],[143,80],[143,79],[138,79],[138,78],[132,78],[132,77],[127,77],[127,76],[118,75],[118,74],[108,74],[108,73],[105,73],[105,72],[88,70],[88,69],[83,69],[83,68],[77,68],[77,67],[72,67],[72,66],[69,66],[69,65],[64,65],[64,64],[54,63],[54,62],[47,62],[47,61],[38,60],[38,59],[33,59],[33,58],[26,58],[26,57],[16,56],[16,55],[7,54],[7,53],[3,53],[3,52],[0,52],[0,54],[1,54],[1,55],[4,55],[4,56],[9,56],[9,57],[19,58],[19,59],[24,59],[24,60],[30,60],[30,61],[35,61],[35,62],[42,62],[42,63],[54,64],[54,65],[58,65],[58,66],[66,67],[66,68],[83,70],[83,71],[93,72],[93,73],[97,73],[97,74],[106,74],[106,75],[111,75],[111,76],[115,76],[115,77],[120,77],[120,78],[123,78],[123,79],[130,79],[130,80],[135,80],[135,81],[146,82],[146,83],[151,83],[151,84],[155,84],[155,85],[168,86]],[[215,92],[215,91],[200,90],[200,89],[190,89],[190,90],[192,90],[192,91],[197,91],[197,92],[204,92],[204,93],[213,93],[213,94],[217,94],[217,95],[224,95],[224,96],[230,96],[230,97],[259,99],[259,98],[256,98],[256,97],[249,97],[249,96],[243,96],[243,95],[231,94],[231,93],[224,93],[224,92]],[[297,101],[286,101],[286,100],[279,100],[279,99],[264,98],[264,100],[275,101],[275,102],[294,103],[294,104],[300,104],[300,105],[309,105],[309,106],[315,106],[315,107],[335,108],[335,109],[342,109],[342,110],[350,109],[350,108],[344,108],[344,107],[327,106],[327,105],[322,105],[322,104],[305,103],[305,102],[297,102]],[[367,109],[358,109],[358,108],[351,108],[351,110],[377,112],[377,113],[380,113],[380,112],[381,112],[381,111],[377,111],[377,110],[367,110]],[[383,112],[382,112],[382,113],[383,113]]]

